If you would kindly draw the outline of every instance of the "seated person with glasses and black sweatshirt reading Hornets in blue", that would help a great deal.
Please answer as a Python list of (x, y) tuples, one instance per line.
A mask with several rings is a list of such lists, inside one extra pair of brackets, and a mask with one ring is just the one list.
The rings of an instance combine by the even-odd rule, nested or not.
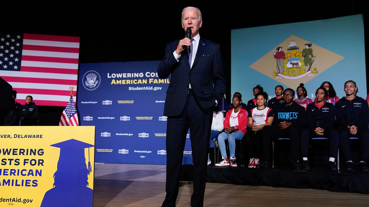
[(293, 101), (295, 92), (291, 88), (283, 91), (283, 105), (279, 105), (274, 110), (272, 126), (264, 126), (262, 133), (262, 156), (256, 168), (263, 169), (270, 167), (270, 141), (281, 137), (290, 138), (291, 155), (293, 167), (301, 169), (300, 158), (300, 132), (306, 124), (305, 109)]

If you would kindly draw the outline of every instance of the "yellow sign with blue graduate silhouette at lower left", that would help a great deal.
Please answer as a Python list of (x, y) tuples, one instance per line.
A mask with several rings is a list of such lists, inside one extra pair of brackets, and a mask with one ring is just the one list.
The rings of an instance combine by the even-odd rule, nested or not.
[(92, 207), (94, 126), (0, 127), (0, 207)]

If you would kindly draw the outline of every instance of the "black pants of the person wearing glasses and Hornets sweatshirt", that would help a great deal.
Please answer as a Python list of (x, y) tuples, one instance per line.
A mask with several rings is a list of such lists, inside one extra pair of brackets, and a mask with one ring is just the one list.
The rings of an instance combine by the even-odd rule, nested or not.
[(287, 129), (279, 129), (277, 125), (264, 126), (262, 133), (261, 160), (270, 162), (270, 141), (281, 137), (290, 138), (292, 161), (300, 158), (300, 129), (291, 124)]

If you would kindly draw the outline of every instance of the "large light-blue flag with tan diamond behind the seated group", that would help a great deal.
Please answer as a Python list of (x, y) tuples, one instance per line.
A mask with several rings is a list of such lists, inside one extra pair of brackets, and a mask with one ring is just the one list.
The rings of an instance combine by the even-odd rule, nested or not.
[[(272, 98), (275, 96), (276, 85), (296, 90), (301, 82), (305, 84), (308, 97), (314, 100), (315, 90), (324, 81), (330, 81), (337, 96), (342, 98), (345, 95), (343, 89), (347, 80), (354, 80), (359, 88), (358, 96), (366, 98), (362, 15), (234, 29), (231, 32), (231, 41), (231, 94), (235, 91), (241, 92), (242, 97), (245, 97), (244, 102), (254, 98), (252, 88), (256, 84), (261, 84)], [(296, 48), (291, 47), (293, 41)], [(310, 71), (315, 68), (317, 73), (300, 73), (290, 77), (273, 76), (273, 71), (276, 71), (273, 50), (280, 46), (288, 56), (288, 52), (305, 49), (306, 43), (312, 43), (311, 49), (315, 56)], [(304, 60), (304, 57), (301, 57), (301, 60)], [(285, 63), (292, 61), (293, 58), (284, 60)], [(300, 75), (306, 76), (299, 77)]]

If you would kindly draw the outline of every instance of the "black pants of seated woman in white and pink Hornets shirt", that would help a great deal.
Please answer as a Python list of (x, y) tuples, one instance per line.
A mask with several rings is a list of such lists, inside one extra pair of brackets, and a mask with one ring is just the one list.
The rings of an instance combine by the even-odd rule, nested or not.
[(261, 149), (261, 134), (263, 130), (252, 131), (247, 130), (245, 136), (242, 138), (246, 140), (246, 155), (248, 158), (260, 158)]

